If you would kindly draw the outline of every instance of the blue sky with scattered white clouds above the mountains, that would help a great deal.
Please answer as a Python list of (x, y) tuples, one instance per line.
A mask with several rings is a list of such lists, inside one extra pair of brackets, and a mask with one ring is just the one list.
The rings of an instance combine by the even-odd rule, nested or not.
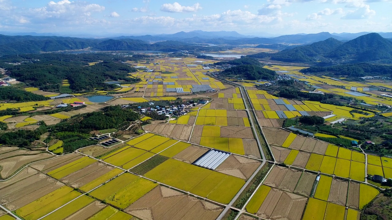
[(63, 36), (392, 32), (391, 9), (392, 0), (0, 0), (0, 31)]

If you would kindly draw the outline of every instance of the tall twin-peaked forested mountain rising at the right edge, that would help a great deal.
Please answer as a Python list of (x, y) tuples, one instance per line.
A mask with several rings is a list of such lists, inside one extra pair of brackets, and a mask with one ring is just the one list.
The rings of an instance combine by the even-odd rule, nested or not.
[(392, 41), (381, 37), (377, 33), (370, 33), (346, 43), (329, 38), (310, 45), (282, 50), (274, 54), (258, 53), (249, 56), (306, 63), (329, 61), (330, 58), (339, 60), (350, 59), (354, 62), (379, 61), (380, 63), (392, 63)]

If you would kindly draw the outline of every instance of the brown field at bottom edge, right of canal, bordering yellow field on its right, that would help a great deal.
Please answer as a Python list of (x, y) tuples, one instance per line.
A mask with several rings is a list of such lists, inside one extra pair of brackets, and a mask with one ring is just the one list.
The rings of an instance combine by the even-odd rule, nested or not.
[(307, 200), (306, 197), (283, 192), (274, 211), (270, 215), (270, 219), (301, 220)]

